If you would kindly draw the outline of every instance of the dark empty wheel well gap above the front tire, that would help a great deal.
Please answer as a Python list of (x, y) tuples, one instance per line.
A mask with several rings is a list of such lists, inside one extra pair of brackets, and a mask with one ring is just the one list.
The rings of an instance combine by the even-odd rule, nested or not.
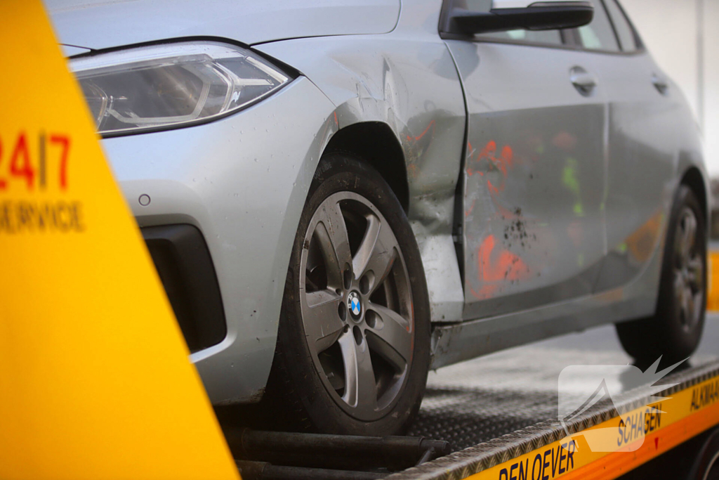
[(324, 153), (339, 151), (357, 155), (375, 168), (389, 184), (404, 211), (409, 211), (405, 156), (399, 140), (388, 124), (359, 122), (340, 129), (329, 140)]

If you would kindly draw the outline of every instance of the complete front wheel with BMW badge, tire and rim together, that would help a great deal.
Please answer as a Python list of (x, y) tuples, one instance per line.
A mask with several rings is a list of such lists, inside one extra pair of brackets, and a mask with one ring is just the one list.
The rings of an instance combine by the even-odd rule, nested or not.
[(263, 402), (278, 425), (403, 433), (429, 367), (429, 301), (398, 199), (366, 163), (321, 160), (293, 245)]

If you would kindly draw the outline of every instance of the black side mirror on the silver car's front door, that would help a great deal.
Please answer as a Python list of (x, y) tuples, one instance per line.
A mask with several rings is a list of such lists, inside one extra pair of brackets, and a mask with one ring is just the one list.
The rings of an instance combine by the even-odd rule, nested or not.
[(590, 1), (491, 0), (489, 11), (467, 9), (467, 0), (449, 0), (441, 31), (475, 35), (507, 30), (555, 30), (582, 27), (592, 21)]

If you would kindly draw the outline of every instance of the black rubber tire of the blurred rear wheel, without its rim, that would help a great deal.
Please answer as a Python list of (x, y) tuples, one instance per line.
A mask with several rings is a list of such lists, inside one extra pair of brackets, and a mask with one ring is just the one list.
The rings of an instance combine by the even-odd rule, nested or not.
[[(684, 216), (686, 212), (691, 212), (696, 220), (695, 242), (690, 255), (697, 259), (695, 264), (701, 266), (700, 273), (695, 274), (698, 311), (691, 319), (682, 313), (682, 305), (678, 298), (681, 289), (675, 286), (679, 255), (677, 233), (683, 232), (686, 228), (685, 223), (682, 223), (687, 222)], [(689, 187), (680, 185), (669, 217), (656, 313), (654, 317), (616, 325), (624, 350), (640, 366), (651, 365), (659, 356), (662, 358), (661, 366), (669, 366), (688, 358), (699, 345), (704, 328), (707, 285), (707, 236), (703, 212), (694, 192)], [(677, 282), (677, 285), (684, 285), (682, 282), (684, 280)]]

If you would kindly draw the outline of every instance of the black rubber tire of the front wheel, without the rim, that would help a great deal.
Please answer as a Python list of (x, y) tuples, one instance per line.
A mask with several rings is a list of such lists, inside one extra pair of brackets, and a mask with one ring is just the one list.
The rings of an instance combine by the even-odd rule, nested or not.
[[(324, 364), (320, 363), (318, 366), (317, 361), (313, 360), (311, 348), (308, 346), (309, 340), (306, 340), (306, 335), (308, 334), (303, 324), (300, 279), (306, 277), (301, 277), (301, 261), (303, 249), (309, 250), (311, 248), (306, 235), (310, 235), (308, 234), (308, 228), (311, 226), (311, 219), (313, 219), (317, 209), (324, 205), (323, 202), (326, 199), (339, 192), (358, 194), (370, 201), (381, 213), (396, 238), (398, 248), (404, 259), (404, 263), (400, 267), (406, 266), (403, 272), (408, 274), (410, 281), (408, 288), (411, 289), (413, 304), (412, 329), (414, 332), (414, 344), (411, 361), (407, 362), (406, 379), (403, 380), (406, 383), (402, 384), (400, 394), (393, 403), (385, 407), (386, 412), (383, 412), (383, 415), (377, 418), (355, 417), (354, 414), (350, 415), (347, 412), (348, 406), (343, 406), (340, 403), (342, 398), (339, 395), (349, 387), (346, 384), (341, 389), (328, 386), (330, 382), (329, 375), (323, 370)], [(335, 197), (333, 196), (332, 198)], [(344, 215), (344, 212), (342, 213)], [(347, 222), (347, 218), (345, 217), (344, 219)], [(347, 228), (349, 230), (349, 227)], [(305, 261), (308, 262), (307, 259), (310, 253), (305, 255)], [(354, 252), (352, 252), (352, 255), (352, 261), (354, 262)], [(391, 265), (394, 264), (395, 262), (393, 261)], [(394, 272), (393, 268), (395, 267), (390, 267), (391, 272)], [(329, 270), (329, 267), (327, 269)], [(305, 271), (306, 275), (310, 274), (307, 268), (305, 268)], [(350, 273), (352, 279), (354, 278), (353, 275), (354, 273)], [(395, 273), (388, 273), (386, 278), (389, 279), (390, 275), (395, 275)], [(346, 279), (347, 277), (343, 278)], [(306, 289), (308, 290), (310, 289), (309, 285), (309, 283), (306, 283)], [(347, 288), (349, 289), (350, 287)], [(339, 289), (337, 291), (339, 294)], [(347, 295), (349, 294), (351, 292), (347, 293)], [(341, 302), (344, 302), (346, 307), (349, 304), (349, 299)], [(371, 305), (369, 299), (367, 299), (367, 304), (365, 305), (367, 308), (363, 307), (365, 308), (363, 314), (365, 311), (367, 312), (367, 319), (370, 318), (369, 307)], [(342, 309), (342, 304), (340, 304), (340, 309)], [(350, 320), (354, 318), (350, 317), (351, 314), (352, 312), (346, 312), (346, 319), (342, 321), (349, 324)], [(348, 327), (345, 328), (347, 329)], [(407, 329), (408, 331), (410, 330), (409, 327)], [(349, 330), (350, 333), (353, 331), (356, 330)], [(367, 338), (363, 340), (366, 345), (370, 344), (370, 336), (367, 333)], [(408, 425), (416, 416), (423, 397), (429, 368), (429, 339), (429, 296), (426, 281), (419, 249), (400, 202), (387, 182), (367, 163), (347, 153), (329, 153), (325, 155), (321, 159), (308, 192), (308, 199), (292, 249), (280, 314), (278, 343), (272, 371), (270, 372), (270, 380), (267, 384), (265, 397), (262, 399), (262, 410), (271, 412), (270, 415), (265, 417), (266, 420), (270, 420), (273, 427), (278, 429), (316, 433), (376, 436), (405, 433)], [(359, 342), (359, 340), (357, 341)], [(316, 348), (316, 350), (319, 350), (319, 348)], [(316, 353), (316, 350), (316, 356), (324, 355), (324, 353)], [(369, 352), (370, 350), (367, 351)], [(374, 350), (372, 350), (372, 353), (374, 355)], [(375, 362), (375, 356), (372, 356), (372, 362)], [(339, 371), (343, 370), (339, 368)], [(372, 376), (372, 378), (374, 379), (375, 376)], [(330, 388), (334, 389), (335, 394), (331, 393)]]

